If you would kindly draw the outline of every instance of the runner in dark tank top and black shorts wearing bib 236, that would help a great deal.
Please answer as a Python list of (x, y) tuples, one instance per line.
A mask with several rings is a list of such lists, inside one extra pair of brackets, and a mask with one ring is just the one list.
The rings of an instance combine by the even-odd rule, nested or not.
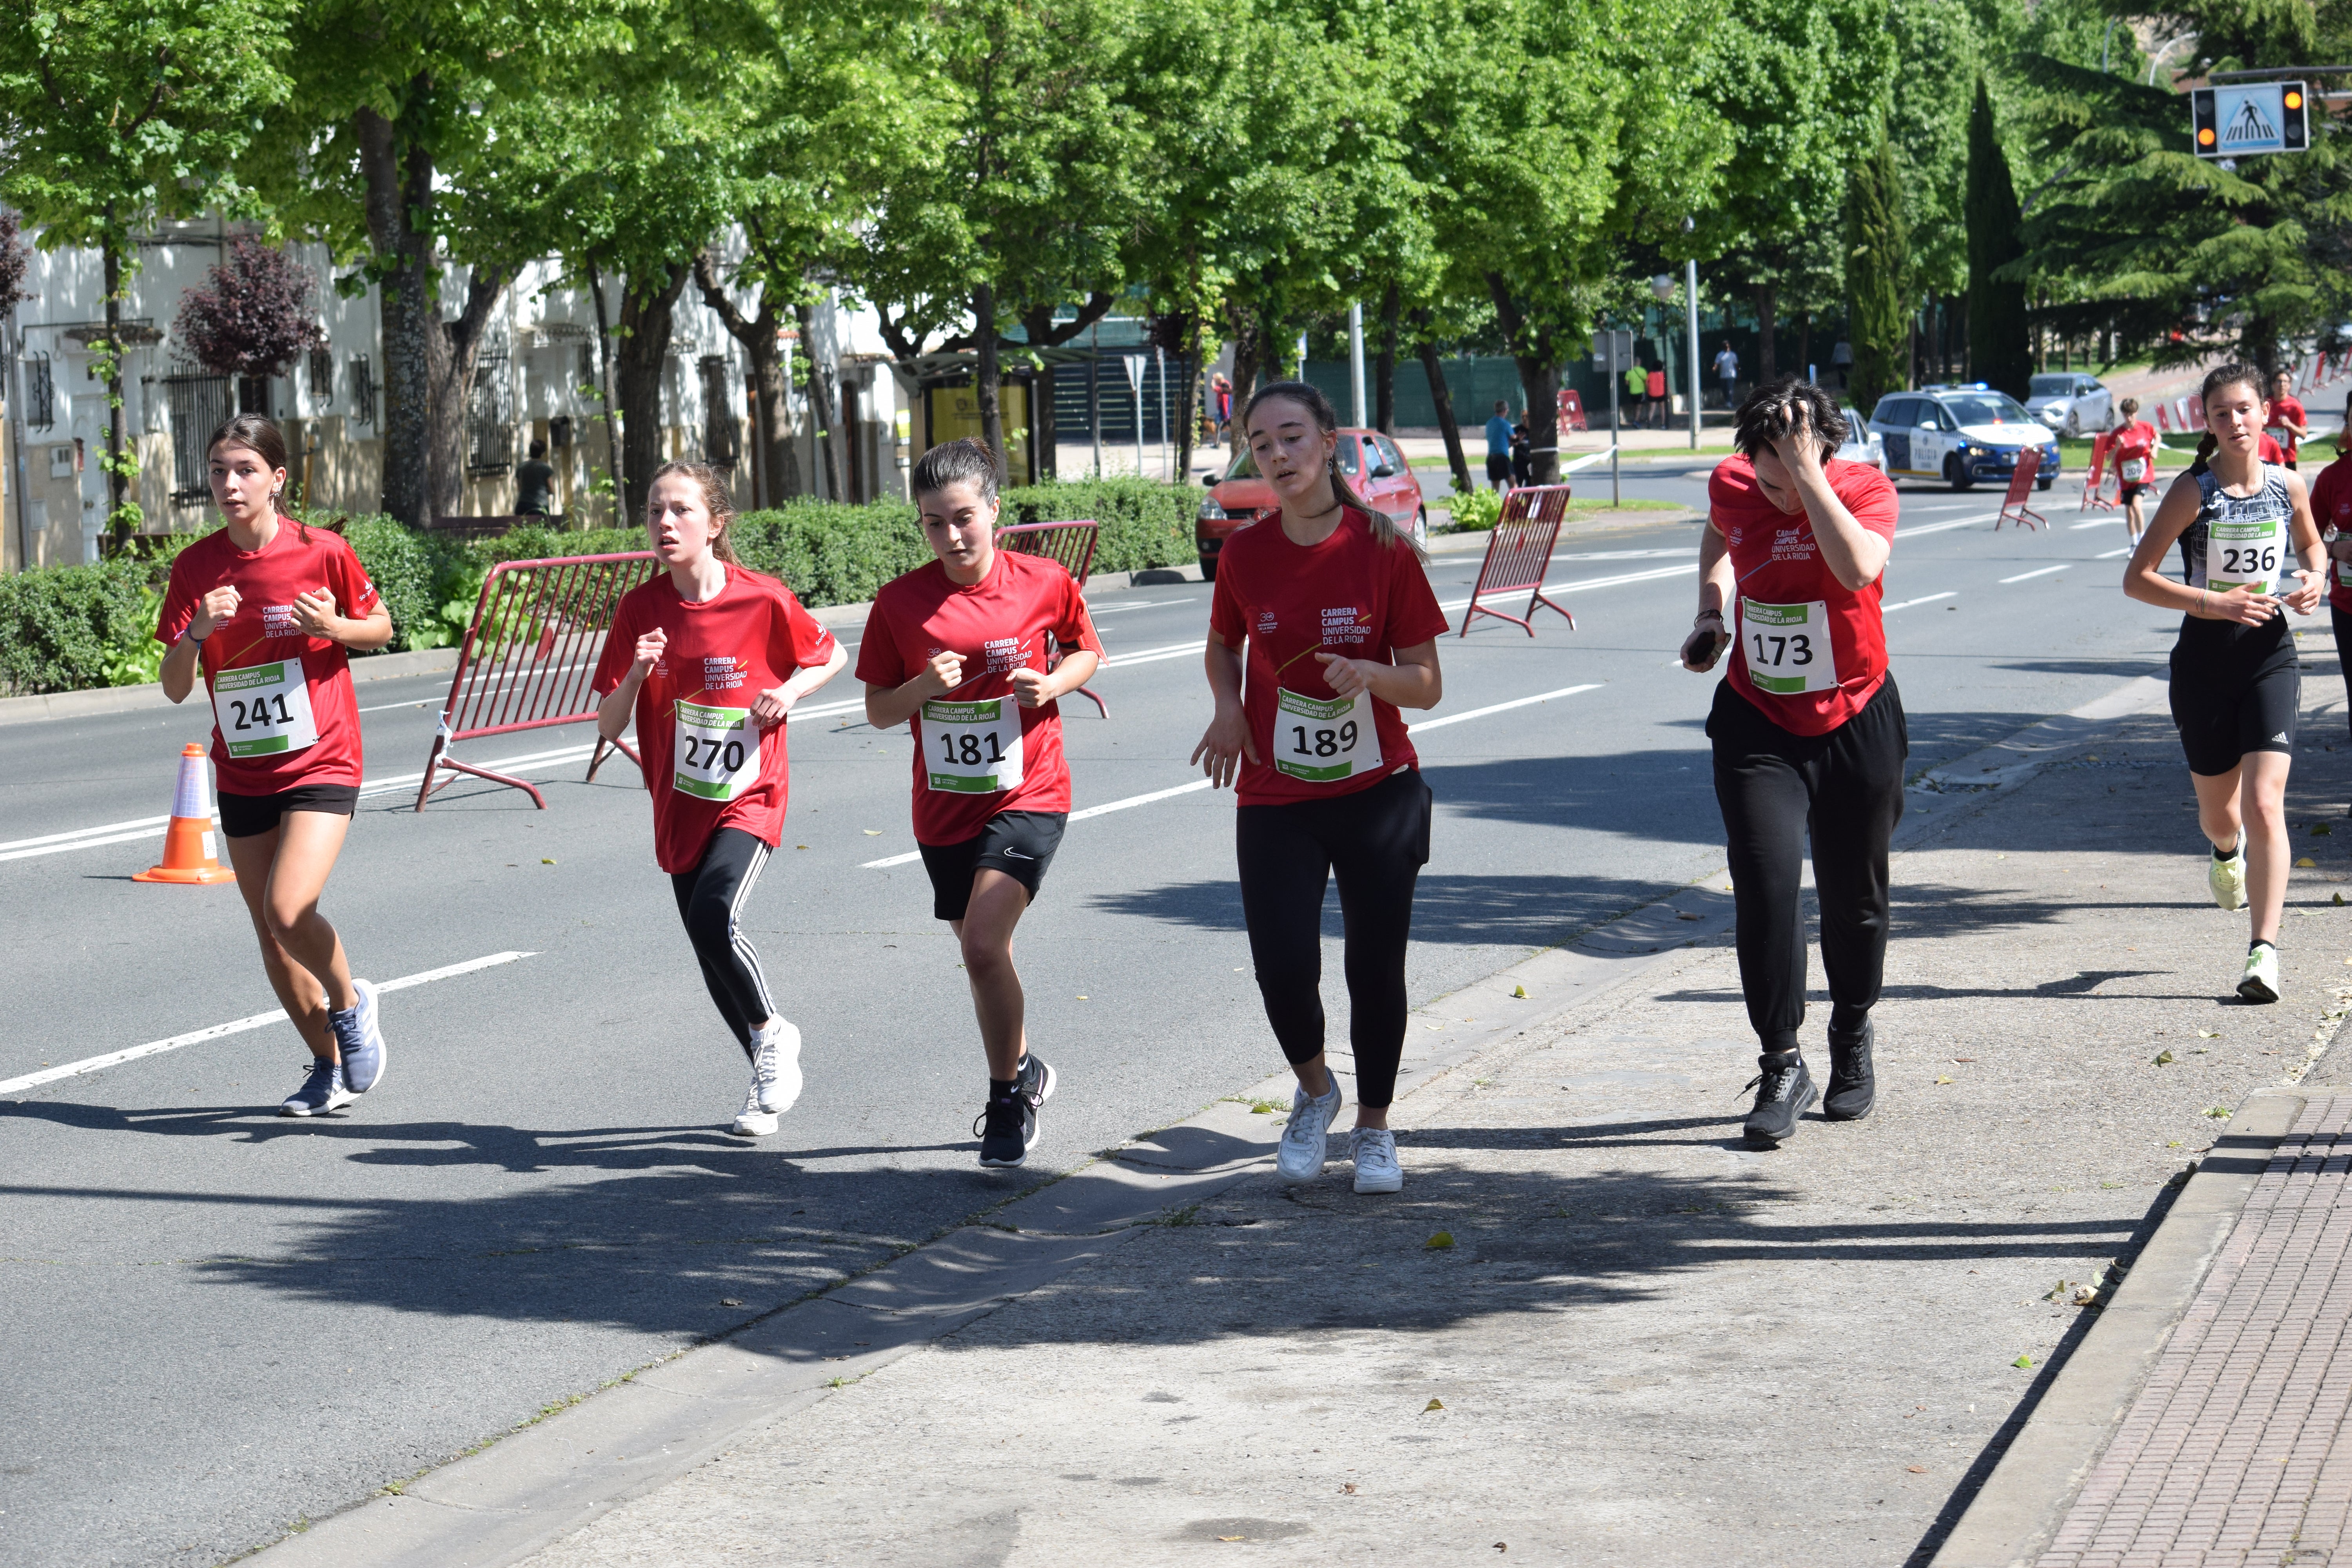
[[(2286, 769), (2296, 750), (2300, 677), (2286, 611), (2307, 616), (2324, 590), (2319, 529), (2293, 470), (2263, 463), (2260, 371), (2206, 376), (2206, 444), (2173, 480), (2131, 552), (2124, 592), (2185, 611), (2171, 701), (2197, 785), (2197, 825), (2213, 839), (2213, 903), (2251, 903), (2253, 943), (2237, 994), (2279, 999), (2279, 912), (2286, 903)], [(2180, 581), (2164, 555), (2180, 541)], [(2249, 898), (2251, 896), (2251, 898)]]

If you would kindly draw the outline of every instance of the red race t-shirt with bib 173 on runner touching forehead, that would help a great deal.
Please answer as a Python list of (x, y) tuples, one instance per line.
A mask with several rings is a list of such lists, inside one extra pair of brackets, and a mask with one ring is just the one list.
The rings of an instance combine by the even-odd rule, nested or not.
[[(1830, 458), (1830, 494), (1882, 538), (1896, 536), (1896, 487), (1877, 468)], [(1738, 581), (1731, 689), (1792, 736), (1825, 736), (1886, 679), (1879, 583), (1842, 585), (1820, 559), (1804, 508), (1783, 512), (1743, 456), (1708, 480), (1710, 524)], [(1882, 574), (1884, 576), (1884, 574)], [(1828, 637), (1823, 637), (1828, 635)]]

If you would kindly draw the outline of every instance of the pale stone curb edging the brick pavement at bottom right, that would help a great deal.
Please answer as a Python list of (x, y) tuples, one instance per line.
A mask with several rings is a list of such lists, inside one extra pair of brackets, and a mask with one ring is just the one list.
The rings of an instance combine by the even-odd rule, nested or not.
[(2023, 1410), (1999, 1465), (1931, 1568), (2027, 1568), (2049, 1547), (2303, 1105), (2305, 1095), (2281, 1088), (2246, 1100), (2131, 1260), (2098, 1321)]

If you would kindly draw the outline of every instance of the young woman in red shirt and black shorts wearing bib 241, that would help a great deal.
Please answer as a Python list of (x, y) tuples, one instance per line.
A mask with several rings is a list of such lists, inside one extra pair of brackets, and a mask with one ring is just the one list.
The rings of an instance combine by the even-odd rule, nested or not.
[(172, 562), (155, 639), (162, 693), (212, 696), (221, 837), (261, 938), (261, 969), (310, 1065), (282, 1117), (318, 1117), (383, 1081), (376, 987), (350, 978), (318, 912), (360, 809), (360, 703), (350, 651), (393, 639), (393, 616), (341, 534), (285, 510), (287, 444), (240, 414), (212, 435), (212, 501), (226, 524)]

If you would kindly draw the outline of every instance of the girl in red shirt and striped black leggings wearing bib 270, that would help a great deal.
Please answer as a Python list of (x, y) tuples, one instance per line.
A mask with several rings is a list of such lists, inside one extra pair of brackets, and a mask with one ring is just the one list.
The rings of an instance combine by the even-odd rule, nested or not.
[(595, 668), (595, 726), (619, 741), (637, 722), (654, 797), (654, 860), (727, 1030), (750, 1058), (739, 1138), (764, 1138), (800, 1098), (800, 1030), (776, 1011), (743, 936), (790, 783), (783, 724), (849, 654), (793, 590), (736, 559), (727, 480), (708, 463), (663, 463), (644, 531), (666, 571), (621, 595)]

